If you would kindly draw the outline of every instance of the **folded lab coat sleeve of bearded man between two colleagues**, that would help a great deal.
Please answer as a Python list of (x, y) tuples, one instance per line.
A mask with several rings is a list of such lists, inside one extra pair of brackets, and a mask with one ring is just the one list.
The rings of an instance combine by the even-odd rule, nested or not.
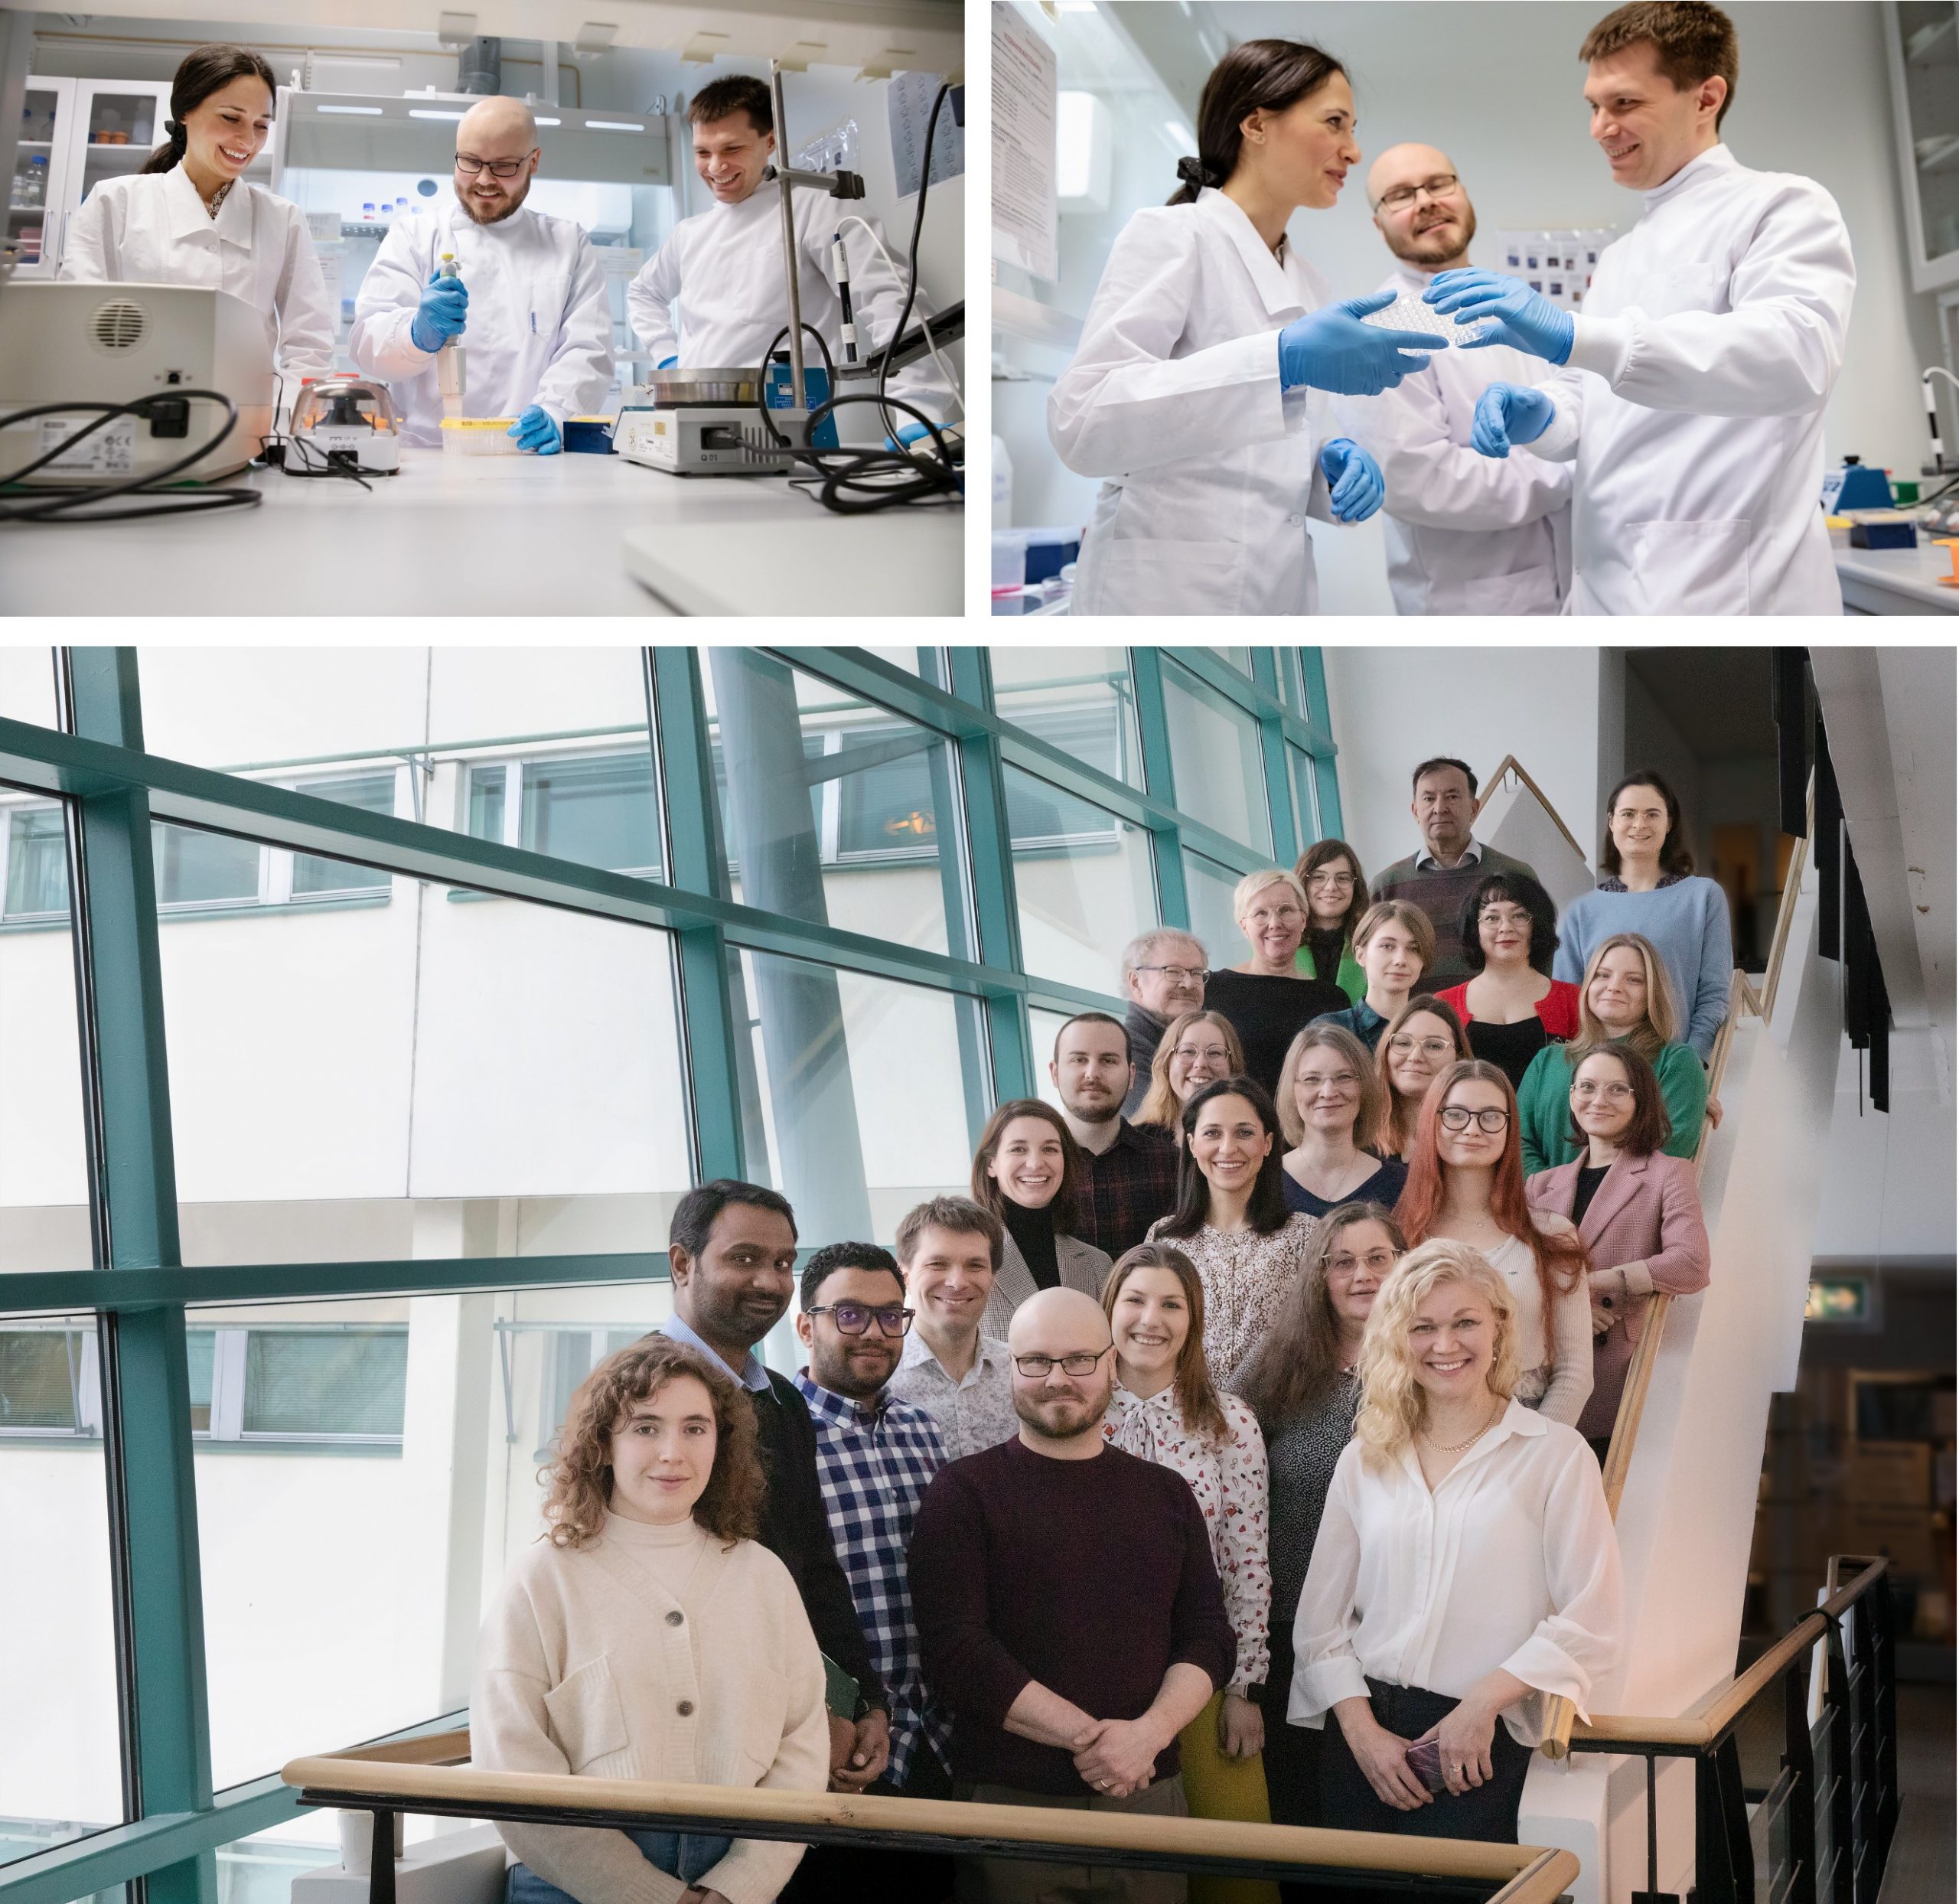
[(1544, 460), (1485, 456), (1450, 435), (1432, 370), (1348, 398), (1342, 429), (1381, 464), (1383, 507), (1420, 529), (1520, 529), (1571, 501), (1571, 478)]

